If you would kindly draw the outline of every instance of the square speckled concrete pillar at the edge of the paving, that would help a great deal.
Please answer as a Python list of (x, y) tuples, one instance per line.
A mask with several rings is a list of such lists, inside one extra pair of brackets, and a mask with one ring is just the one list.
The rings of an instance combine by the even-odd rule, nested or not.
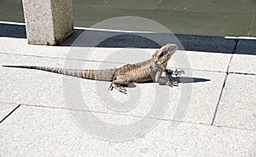
[(28, 44), (55, 45), (73, 33), (72, 0), (22, 0)]

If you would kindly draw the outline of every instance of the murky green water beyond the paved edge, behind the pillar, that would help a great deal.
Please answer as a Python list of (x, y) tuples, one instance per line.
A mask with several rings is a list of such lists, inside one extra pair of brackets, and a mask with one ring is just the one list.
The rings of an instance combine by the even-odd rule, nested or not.
[[(24, 22), (21, 0), (0, 4), (0, 20)], [(73, 14), (74, 26), (139, 16), (179, 34), (256, 37), (256, 0), (73, 0)]]

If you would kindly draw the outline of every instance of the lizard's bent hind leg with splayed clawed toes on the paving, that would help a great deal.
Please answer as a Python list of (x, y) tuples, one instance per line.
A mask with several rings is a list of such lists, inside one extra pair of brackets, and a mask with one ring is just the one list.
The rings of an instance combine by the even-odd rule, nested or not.
[(125, 90), (125, 87), (127, 87), (130, 84), (129, 78), (127, 78), (125, 75), (119, 75), (113, 82), (110, 84), (110, 87), (108, 90), (119, 90), (119, 92), (127, 94)]

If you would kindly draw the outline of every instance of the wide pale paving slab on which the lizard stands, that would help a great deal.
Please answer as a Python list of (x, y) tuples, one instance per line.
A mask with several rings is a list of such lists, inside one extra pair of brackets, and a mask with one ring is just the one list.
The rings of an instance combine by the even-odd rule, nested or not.
[[(61, 59), (23, 55), (1, 55), (1, 57), (4, 61), (1, 64), (7, 65), (16, 65), (17, 62), (19, 65), (29, 63), (29, 65), (49, 67), (63, 67), (64, 65), (64, 61)], [(82, 63), (82, 65), (84, 63), (85, 68), (95, 69), (119, 67), (118, 64), (108, 62), (77, 61), (77, 63)], [(212, 123), (225, 76), (225, 73), (185, 70), (183, 76), (177, 77), (177, 81), (180, 82), (177, 88), (153, 83), (131, 84), (131, 87), (127, 88), (129, 95), (124, 96), (114, 90), (109, 91), (109, 82), (63, 77), (56, 73), (20, 68), (0, 67), (0, 71), (2, 75), (0, 84), (3, 86), (2, 92), (0, 91), (2, 102), (137, 116), (145, 116), (152, 106), (159, 105), (160, 109), (168, 108), (165, 110), (166, 116), (162, 117), (165, 115), (164, 113), (148, 116), (204, 124)], [(73, 89), (75, 87), (77, 89)], [(78, 96), (82, 98), (81, 101), (84, 101), (79, 102), (79, 106), (67, 104), (67, 97), (78, 93), (73, 90), (78, 90), (80, 93)], [(204, 99), (201, 99), (201, 90), (207, 91), (204, 92)], [(154, 96), (160, 99), (156, 99)], [(70, 99), (78, 100), (78, 97), (73, 96)], [(114, 108), (117, 108), (118, 111)], [(119, 109), (125, 112), (119, 111)], [(179, 112), (181, 115), (175, 117)]]

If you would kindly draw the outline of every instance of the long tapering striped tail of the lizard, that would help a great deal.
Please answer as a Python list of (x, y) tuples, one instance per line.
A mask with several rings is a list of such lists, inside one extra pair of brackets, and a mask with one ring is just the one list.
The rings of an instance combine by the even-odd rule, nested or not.
[(59, 73), (63, 75), (73, 76), (77, 78), (95, 79), (102, 81), (113, 80), (113, 73), (115, 69), (105, 70), (79, 70), (79, 69), (64, 69), (58, 67), (36, 67), (36, 66), (2, 66), (2, 67), (15, 67), (15, 68), (27, 68), (43, 70), (50, 73)]

